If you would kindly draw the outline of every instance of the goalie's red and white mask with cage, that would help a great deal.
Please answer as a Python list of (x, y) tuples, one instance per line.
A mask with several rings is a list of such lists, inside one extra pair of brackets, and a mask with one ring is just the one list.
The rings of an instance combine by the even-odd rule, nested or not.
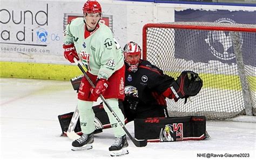
[(129, 71), (136, 72), (138, 70), (141, 51), (139, 45), (133, 41), (124, 46), (124, 61), (129, 65)]

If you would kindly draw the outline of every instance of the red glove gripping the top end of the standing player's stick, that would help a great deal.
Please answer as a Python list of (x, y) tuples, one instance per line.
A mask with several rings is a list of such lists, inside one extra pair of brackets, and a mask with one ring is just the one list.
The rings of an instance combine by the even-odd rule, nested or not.
[(77, 54), (77, 51), (76, 51), (76, 48), (75, 48), (74, 44), (63, 45), (63, 49), (64, 49), (64, 57), (66, 59), (68, 59), (71, 63), (75, 62), (73, 60), (74, 58), (79, 60), (78, 54)]

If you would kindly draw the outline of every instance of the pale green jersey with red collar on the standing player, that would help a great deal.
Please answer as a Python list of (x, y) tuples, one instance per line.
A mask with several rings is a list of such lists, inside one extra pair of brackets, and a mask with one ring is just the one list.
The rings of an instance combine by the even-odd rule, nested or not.
[(99, 23), (89, 32), (83, 18), (76, 18), (66, 26), (64, 44), (73, 43), (80, 60), (88, 71), (98, 78), (108, 79), (124, 65), (121, 48), (116, 48), (112, 31)]

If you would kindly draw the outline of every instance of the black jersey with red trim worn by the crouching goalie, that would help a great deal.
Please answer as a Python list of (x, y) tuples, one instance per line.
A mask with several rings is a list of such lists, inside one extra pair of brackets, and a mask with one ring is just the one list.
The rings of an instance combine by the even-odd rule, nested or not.
[[(165, 75), (161, 69), (149, 61), (141, 60), (135, 73), (129, 72), (127, 69), (129, 66), (126, 63), (125, 65), (126, 96), (123, 102), (125, 113), (142, 115), (133, 118), (144, 118), (143, 113), (145, 114), (147, 111), (157, 112), (158, 108), (166, 108), (165, 97), (162, 93), (170, 87), (174, 79)], [(149, 115), (145, 115), (145, 117), (149, 117)], [(152, 117), (158, 117), (157, 113)]]

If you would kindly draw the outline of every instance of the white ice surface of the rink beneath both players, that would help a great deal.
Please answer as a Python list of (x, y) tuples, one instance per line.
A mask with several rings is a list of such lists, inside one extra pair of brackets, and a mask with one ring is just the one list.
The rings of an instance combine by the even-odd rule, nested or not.
[[(197, 154), (250, 154), (255, 159), (256, 123), (207, 121), (211, 138), (203, 141), (148, 143), (138, 148), (129, 140), (128, 155), (110, 157), (111, 129), (95, 135), (92, 150), (71, 151), (60, 137), (57, 116), (76, 107), (69, 81), (1, 78), (0, 159), (207, 159)], [(133, 123), (126, 124), (133, 135)], [(211, 159), (241, 159), (216, 158)]]

